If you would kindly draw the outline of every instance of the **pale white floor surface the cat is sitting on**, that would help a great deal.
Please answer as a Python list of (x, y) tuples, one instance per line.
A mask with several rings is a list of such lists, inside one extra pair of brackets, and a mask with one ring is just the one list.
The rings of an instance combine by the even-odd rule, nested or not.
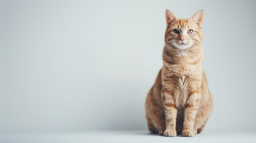
[(189, 142), (189, 143), (219, 143), (219, 142), (256, 142), (256, 132), (212, 132), (200, 133), (195, 137), (165, 137), (152, 135), (147, 131), (91, 131), (69, 133), (0, 133), (0, 142), (12, 143), (65, 143), (65, 142)]

